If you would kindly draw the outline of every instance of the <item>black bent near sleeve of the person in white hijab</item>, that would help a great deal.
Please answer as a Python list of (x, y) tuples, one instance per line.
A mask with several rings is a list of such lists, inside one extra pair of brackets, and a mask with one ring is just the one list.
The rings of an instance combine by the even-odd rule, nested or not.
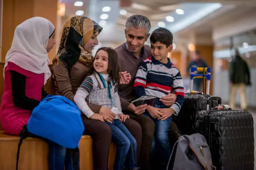
[(26, 76), (13, 70), (11, 73), (11, 82), (13, 90), (13, 103), (15, 106), (26, 110), (33, 110), (40, 101), (28, 98), (25, 94)]

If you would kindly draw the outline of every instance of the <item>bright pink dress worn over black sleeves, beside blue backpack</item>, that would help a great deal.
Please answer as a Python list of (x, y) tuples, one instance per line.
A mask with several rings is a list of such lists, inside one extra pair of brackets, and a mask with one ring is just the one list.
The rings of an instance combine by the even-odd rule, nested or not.
[(36, 74), (25, 70), (13, 62), (5, 67), (4, 92), (0, 107), (0, 120), (6, 134), (19, 135), (24, 125), (28, 124), (30, 110), (19, 108), (13, 104), (13, 90), (10, 70), (26, 76), (25, 94), (29, 98), (41, 100), (41, 90), (44, 85), (44, 73)]

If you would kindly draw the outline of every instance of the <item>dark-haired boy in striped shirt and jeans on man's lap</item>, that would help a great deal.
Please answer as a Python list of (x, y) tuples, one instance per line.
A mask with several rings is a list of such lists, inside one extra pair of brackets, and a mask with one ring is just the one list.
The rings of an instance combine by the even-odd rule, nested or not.
[[(158, 28), (152, 32), (151, 57), (147, 58), (138, 67), (134, 90), (137, 97), (153, 95), (156, 97), (154, 105), (149, 107), (144, 115), (155, 123), (155, 137), (151, 148), (152, 161), (159, 158), (158, 169), (166, 169), (170, 153), (169, 128), (172, 115), (178, 115), (184, 102), (184, 88), (179, 69), (167, 57), (172, 52), (172, 32), (165, 28)], [(166, 107), (160, 98), (172, 90), (176, 92), (176, 102)], [(157, 150), (155, 150), (157, 148)], [(157, 152), (156, 152), (157, 151)], [(154, 158), (153, 158), (153, 157)]]

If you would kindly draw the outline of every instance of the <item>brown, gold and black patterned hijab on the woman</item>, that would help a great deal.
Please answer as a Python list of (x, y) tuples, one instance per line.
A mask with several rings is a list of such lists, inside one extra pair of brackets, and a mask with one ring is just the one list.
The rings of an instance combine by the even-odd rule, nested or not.
[(84, 50), (84, 43), (87, 43), (97, 31), (100, 33), (102, 27), (90, 18), (76, 16), (67, 20), (62, 30), (59, 50), (53, 59), (53, 63), (60, 61), (67, 65), (69, 70), (77, 61), (90, 67), (92, 53)]

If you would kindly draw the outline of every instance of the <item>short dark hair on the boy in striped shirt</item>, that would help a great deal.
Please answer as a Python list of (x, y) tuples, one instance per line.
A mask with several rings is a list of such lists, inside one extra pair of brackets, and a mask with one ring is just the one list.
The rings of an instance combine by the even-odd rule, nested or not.
[(166, 28), (157, 28), (154, 30), (150, 36), (150, 42), (156, 43), (160, 42), (166, 47), (169, 47), (169, 45), (172, 45), (173, 41), (173, 35), (172, 32), (167, 30)]

